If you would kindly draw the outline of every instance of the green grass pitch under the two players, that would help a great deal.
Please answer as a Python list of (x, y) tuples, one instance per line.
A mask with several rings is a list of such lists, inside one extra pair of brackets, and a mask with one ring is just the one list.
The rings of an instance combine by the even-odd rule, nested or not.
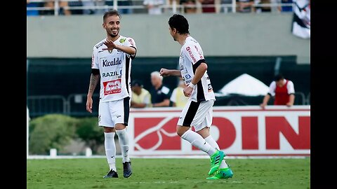
[(133, 174), (123, 177), (117, 158), (118, 179), (103, 179), (107, 160), (27, 160), (27, 188), (310, 188), (310, 158), (228, 159), (232, 179), (206, 180), (208, 159), (133, 158)]

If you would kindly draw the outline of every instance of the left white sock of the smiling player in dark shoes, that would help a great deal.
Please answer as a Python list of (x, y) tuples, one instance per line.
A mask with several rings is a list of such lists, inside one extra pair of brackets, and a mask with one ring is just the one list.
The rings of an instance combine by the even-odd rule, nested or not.
[(107, 156), (107, 163), (109, 164), (110, 170), (116, 169), (116, 145), (114, 144), (114, 132), (104, 133), (104, 147), (105, 155)]

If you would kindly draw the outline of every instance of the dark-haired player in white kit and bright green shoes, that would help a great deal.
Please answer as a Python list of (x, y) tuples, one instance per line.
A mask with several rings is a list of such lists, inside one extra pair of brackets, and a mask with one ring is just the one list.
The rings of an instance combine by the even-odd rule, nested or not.
[[(188, 31), (189, 25), (183, 15), (175, 14), (169, 19), (169, 31), (174, 41), (182, 45), (180, 50), (180, 70), (160, 70), (161, 76), (178, 76), (188, 85), (184, 94), (189, 97), (181, 112), (177, 134), (190, 144), (207, 153), (211, 158), (211, 169), (207, 179), (232, 178), (233, 172), (223, 159), (226, 155), (209, 134), (213, 118), (213, 104), (216, 100), (207, 74), (207, 64), (201, 47)], [(194, 127), (194, 131), (190, 130)]]

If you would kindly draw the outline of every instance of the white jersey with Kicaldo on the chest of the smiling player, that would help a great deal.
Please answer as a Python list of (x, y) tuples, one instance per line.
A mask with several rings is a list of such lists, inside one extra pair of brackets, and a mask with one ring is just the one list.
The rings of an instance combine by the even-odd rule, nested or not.
[[(131, 59), (121, 50), (102, 50), (107, 48), (103, 39), (93, 47), (91, 69), (100, 69), (100, 102), (110, 102), (131, 97)], [(136, 48), (133, 38), (119, 36), (116, 45)]]

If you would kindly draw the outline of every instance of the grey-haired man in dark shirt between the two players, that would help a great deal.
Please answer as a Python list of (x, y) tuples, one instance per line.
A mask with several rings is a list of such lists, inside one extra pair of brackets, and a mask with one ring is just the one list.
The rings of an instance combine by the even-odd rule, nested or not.
[(159, 71), (151, 73), (151, 83), (152, 107), (170, 106), (170, 89), (163, 85), (163, 76), (160, 75)]

